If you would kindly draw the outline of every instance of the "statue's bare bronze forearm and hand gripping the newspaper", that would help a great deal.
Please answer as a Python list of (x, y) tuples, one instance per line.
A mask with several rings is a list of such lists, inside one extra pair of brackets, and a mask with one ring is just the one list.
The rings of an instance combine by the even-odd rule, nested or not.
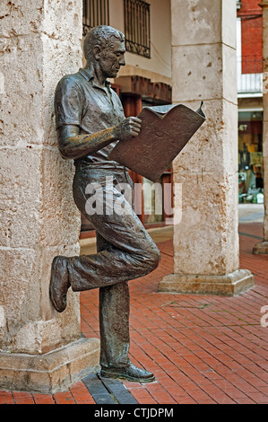
[(116, 140), (138, 136), (140, 129), (141, 119), (134, 117), (92, 135), (80, 134), (79, 126), (65, 125), (57, 129), (59, 151), (65, 159), (78, 159), (95, 153)]

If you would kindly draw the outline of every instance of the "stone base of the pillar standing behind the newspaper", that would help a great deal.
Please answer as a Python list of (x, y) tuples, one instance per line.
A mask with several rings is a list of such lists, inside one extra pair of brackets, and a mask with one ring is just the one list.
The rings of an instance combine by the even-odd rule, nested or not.
[(224, 276), (177, 275), (164, 277), (159, 292), (234, 296), (255, 286), (254, 277), (248, 269), (238, 269)]

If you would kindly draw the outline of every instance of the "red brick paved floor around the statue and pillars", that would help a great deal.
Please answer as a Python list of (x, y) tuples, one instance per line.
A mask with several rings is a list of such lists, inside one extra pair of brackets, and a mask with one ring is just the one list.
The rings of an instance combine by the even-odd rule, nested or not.
[[(240, 268), (255, 275), (243, 295), (158, 293), (161, 277), (173, 272), (172, 241), (160, 242), (160, 267), (131, 286), (131, 348), (136, 365), (156, 382), (124, 382), (140, 404), (268, 403), (268, 258), (252, 248), (262, 224), (240, 224)], [(82, 333), (99, 336), (98, 291), (81, 295)], [(268, 313), (268, 311), (266, 311)], [(50, 395), (0, 391), (1, 403), (94, 403), (83, 382)]]

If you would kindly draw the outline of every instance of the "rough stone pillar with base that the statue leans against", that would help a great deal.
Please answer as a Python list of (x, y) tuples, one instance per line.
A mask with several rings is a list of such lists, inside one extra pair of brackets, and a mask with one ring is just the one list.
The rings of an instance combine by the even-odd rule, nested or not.
[(79, 295), (62, 314), (54, 256), (79, 254), (73, 163), (57, 150), (57, 81), (81, 66), (81, 0), (0, 4), (0, 389), (53, 393), (99, 363), (81, 338)]

